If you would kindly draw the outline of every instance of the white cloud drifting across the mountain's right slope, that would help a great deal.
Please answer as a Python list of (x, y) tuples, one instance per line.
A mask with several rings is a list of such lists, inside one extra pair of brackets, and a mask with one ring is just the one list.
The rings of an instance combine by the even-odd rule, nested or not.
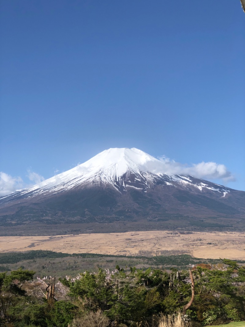
[(214, 162), (193, 163), (191, 165), (175, 162), (162, 156), (160, 162), (148, 162), (143, 168), (155, 174), (192, 175), (206, 180), (221, 179), (223, 182), (235, 181), (235, 177), (224, 164)]

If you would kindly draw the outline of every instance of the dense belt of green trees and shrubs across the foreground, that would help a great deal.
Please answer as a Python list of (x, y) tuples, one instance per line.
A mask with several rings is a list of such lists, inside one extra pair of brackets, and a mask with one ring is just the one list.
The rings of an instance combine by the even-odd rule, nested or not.
[(245, 267), (228, 259), (170, 273), (117, 266), (56, 281), (34, 274), (0, 273), (1, 327), (156, 327), (161, 314), (177, 312), (194, 326), (245, 319)]

